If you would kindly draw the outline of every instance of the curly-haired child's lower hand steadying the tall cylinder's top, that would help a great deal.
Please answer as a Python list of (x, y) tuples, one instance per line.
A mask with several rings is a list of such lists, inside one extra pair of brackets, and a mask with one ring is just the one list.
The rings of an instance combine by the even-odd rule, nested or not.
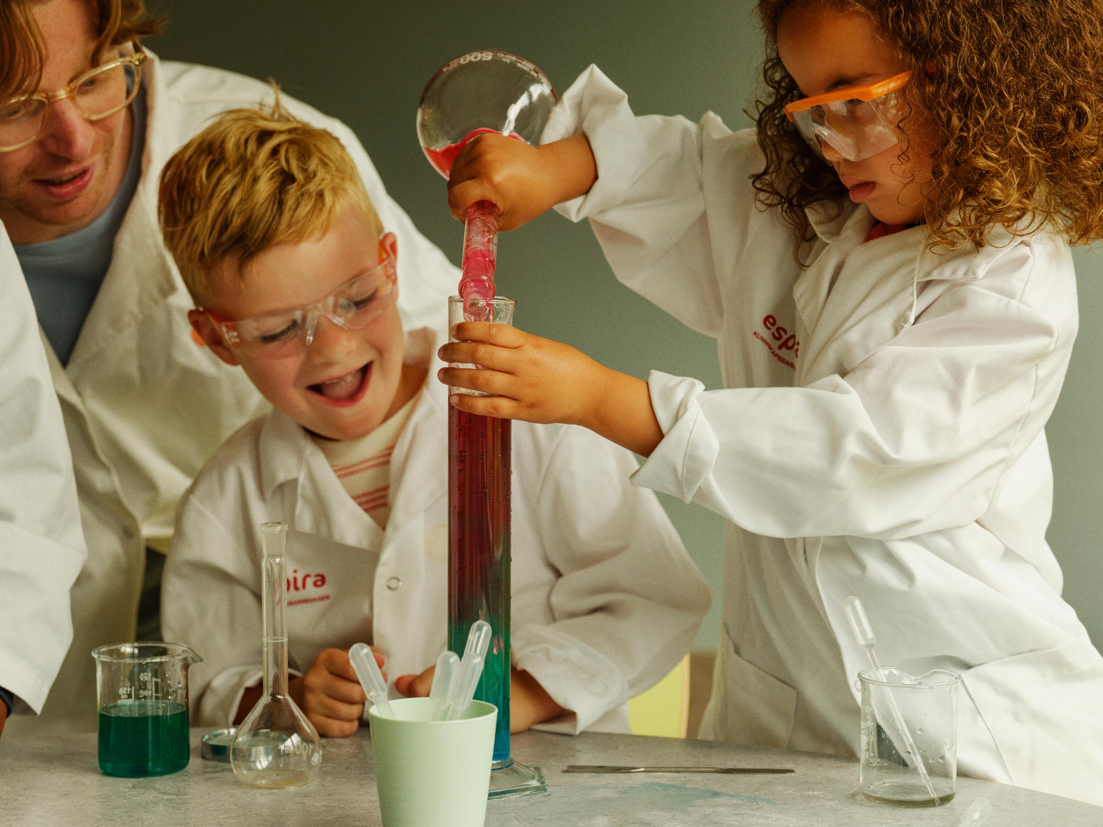
[(461, 322), (460, 340), (442, 345), (445, 362), (483, 369), (443, 367), (446, 385), (494, 396), (453, 394), (460, 410), (527, 422), (580, 425), (647, 457), (663, 439), (647, 383), (611, 370), (580, 351), (505, 324)]

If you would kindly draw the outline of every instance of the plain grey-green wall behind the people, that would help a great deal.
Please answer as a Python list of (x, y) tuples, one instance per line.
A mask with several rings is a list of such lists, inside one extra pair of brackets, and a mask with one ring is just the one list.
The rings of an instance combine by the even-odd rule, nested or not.
[[(149, 46), (190, 61), (278, 80), (352, 127), (392, 196), (459, 260), (462, 228), (443, 180), (417, 143), (414, 112), (426, 80), (475, 49), (528, 57), (565, 90), (597, 63), (640, 114), (698, 119), (711, 109), (750, 123), (761, 35), (750, 0), (148, 0), (169, 18)], [(1049, 540), (1065, 597), (1103, 645), (1103, 253), (1077, 253), (1081, 333), (1048, 434), (1056, 473)], [(656, 368), (720, 386), (716, 345), (613, 279), (587, 225), (549, 214), (503, 237), (500, 289), (517, 300), (517, 324), (568, 342), (636, 376)], [(719, 594), (722, 520), (663, 496), (694, 560)], [(716, 645), (719, 606), (696, 647)]]

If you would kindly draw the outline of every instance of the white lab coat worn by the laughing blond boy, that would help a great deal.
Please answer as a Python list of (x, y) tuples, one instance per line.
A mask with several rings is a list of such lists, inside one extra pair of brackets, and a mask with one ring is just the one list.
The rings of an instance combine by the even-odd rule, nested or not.
[[(296, 674), (322, 649), (364, 641), (386, 658), (394, 695), (398, 676), (446, 648), (448, 389), (436, 378), (446, 340), (421, 330), (408, 341), (407, 361), (428, 359), (429, 379), (392, 455), (385, 533), (278, 411), (226, 442), (181, 501), (161, 616), (171, 640), (205, 658), (190, 675), (200, 726), (229, 724), (261, 675), (260, 523), (289, 526)], [(569, 710), (546, 728), (628, 732), (625, 702), (688, 649), (708, 587), (655, 495), (628, 484), (628, 451), (527, 422), (514, 422), (512, 445), (513, 665)]]

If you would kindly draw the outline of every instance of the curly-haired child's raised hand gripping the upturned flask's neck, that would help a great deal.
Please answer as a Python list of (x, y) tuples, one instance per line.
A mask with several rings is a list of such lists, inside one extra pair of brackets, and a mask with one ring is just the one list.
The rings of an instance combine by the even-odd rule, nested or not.
[(467, 218), (476, 201), (499, 208), (499, 228), (515, 229), (556, 204), (585, 195), (598, 179), (585, 135), (531, 147), (515, 138), (484, 133), (471, 139), (452, 164), (448, 205)]

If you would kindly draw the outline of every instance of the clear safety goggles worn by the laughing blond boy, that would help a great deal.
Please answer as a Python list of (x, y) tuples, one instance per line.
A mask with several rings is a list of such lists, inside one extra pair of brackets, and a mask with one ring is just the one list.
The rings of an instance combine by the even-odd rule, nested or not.
[[(384, 239), (387, 237), (394, 236), (388, 233)], [(379, 241), (379, 259), (377, 266), (313, 304), (233, 322), (204, 308), (199, 310), (218, 329), (228, 347), (263, 358), (300, 355), (314, 341), (321, 316), (345, 330), (363, 330), (394, 304), (398, 298), (398, 271), (383, 240)]]

